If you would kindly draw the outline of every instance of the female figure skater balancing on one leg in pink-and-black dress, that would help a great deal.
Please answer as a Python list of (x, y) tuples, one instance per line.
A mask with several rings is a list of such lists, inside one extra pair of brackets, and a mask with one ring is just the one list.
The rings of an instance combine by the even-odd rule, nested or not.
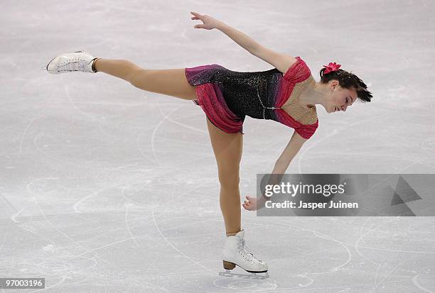
[[(301, 146), (316, 131), (316, 105), (323, 106), (328, 113), (346, 111), (357, 99), (370, 101), (372, 94), (361, 79), (340, 69), (335, 62), (323, 66), (321, 81), (316, 82), (301, 57), (274, 52), (211, 16), (191, 13), (191, 19), (202, 21), (194, 28), (216, 28), (274, 68), (262, 72), (235, 72), (213, 64), (151, 70), (127, 60), (103, 59), (78, 51), (58, 55), (44, 69), (52, 74), (104, 72), (144, 91), (191, 100), (199, 105), (206, 114), (218, 165), (220, 209), (227, 236), (222, 250), (223, 267), (232, 270), (238, 265), (247, 272), (267, 272), (267, 264), (245, 246), (245, 229), (241, 228), (239, 168), (245, 116), (269, 119), (294, 128), (272, 171), (272, 174), (284, 174)], [(264, 197), (257, 201), (256, 197), (247, 196), (242, 206), (254, 211), (264, 206), (264, 201)]]

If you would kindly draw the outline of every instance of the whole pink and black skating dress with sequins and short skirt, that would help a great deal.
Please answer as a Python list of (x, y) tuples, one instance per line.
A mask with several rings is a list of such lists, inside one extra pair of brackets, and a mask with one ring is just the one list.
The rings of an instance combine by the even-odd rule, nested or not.
[(285, 74), (276, 68), (235, 72), (213, 64), (186, 68), (186, 77), (189, 84), (196, 86), (198, 99), (193, 102), (201, 106), (210, 122), (226, 133), (243, 133), (245, 116), (277, 121), (294, 128), (304, 138), (310, 138), (318, 127), (317, 116), (310, 123), (301, 123), (281, 108), (287, 99), (299, 96), (301, 84), (314, 82), (301, 57), (296, 57)]

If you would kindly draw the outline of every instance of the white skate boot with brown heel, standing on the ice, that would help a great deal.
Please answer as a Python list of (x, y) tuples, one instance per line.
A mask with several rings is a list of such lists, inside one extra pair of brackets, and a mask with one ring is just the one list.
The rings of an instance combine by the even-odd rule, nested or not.
[(247, 272), (267, 272), (266, 262), (258, 260), (245, 248), (245, 230), (235, 236), (228, 236), (222, 250), (223, 267), (232, 270), (236, 265)]

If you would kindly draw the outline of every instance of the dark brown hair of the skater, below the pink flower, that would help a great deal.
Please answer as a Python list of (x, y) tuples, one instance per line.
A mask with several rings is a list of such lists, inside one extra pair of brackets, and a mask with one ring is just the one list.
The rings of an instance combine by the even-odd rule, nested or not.
[(326, 68), (322, 68), (319, 72), (322, 84), (327, 84), (331, 80), (335, 79), (338, 80), (340, 87), (343, 87), (344, 89), (350, 89), (352, 87), (355, 88), (358, 94), (358, 99), (361, 101), (365, 102), (372, 100), (373, 96), (372, 93), (367, 90), (367, 85), (365, 85), (365, 83), (352, 72), (339, 69), (328, 72), (327, 74), (323, 74), (325, 70)]

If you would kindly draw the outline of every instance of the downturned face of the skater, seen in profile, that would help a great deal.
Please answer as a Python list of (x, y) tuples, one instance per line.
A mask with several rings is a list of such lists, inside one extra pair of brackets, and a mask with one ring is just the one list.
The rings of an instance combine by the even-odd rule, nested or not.
[(358, 96), (355, 88), (343, 89), (337, 80), (328, 82), (328, 89), (331, 91), (328, 103), (326, 104), (326, 111), (328, 113), (346, 111), (348, 106), (352, 106)]

